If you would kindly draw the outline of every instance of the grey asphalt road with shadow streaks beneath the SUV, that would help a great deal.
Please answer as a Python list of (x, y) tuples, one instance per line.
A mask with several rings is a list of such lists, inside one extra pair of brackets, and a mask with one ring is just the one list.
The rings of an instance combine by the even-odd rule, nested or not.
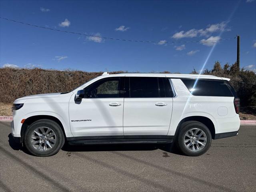
[(0, 191), (256, 191), (256, 127), (199, 157), (162, 145), (66, 146), (31, 156), (0, 122)]

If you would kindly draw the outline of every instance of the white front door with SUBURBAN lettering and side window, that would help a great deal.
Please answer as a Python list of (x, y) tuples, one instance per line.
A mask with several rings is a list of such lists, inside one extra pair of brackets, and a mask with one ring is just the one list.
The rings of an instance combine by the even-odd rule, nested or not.
[(70, 99), (70, 128), (74, 136), (123, 136), (124, 77), (109, 77), (86, 87), (81, 102)]

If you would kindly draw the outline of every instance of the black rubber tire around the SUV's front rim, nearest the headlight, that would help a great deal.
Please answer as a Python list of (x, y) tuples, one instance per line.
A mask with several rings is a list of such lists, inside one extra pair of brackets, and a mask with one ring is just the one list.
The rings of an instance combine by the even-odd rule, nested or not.
[[(56, 135), (56, 137), (54, 137), (56, 139), (54, 146), (52, 146), (52, 148), (47, 149), (45, 151), (37, 150), (31, 143), (31, 135), (34, 133), (34, 130), (36, 130), (39, 127), (50, 128)], [(27, 130), (24, 134), (24, 145), (25, 145), (26, 149), (28, 150), (28, 152), (30, 152), (31, 154), (33, 154), (35, 156), (47, 157), (47, 156), (55, 155), (56, 153), (59, 152), (59, 150), (62, 148), (64, 143), (65, 143), (65, 136), (63, 134), (63, 131), (62, 131), (61, 127), (59, 126), (59, 124), (54, 122), (53, 120), (48, 120), (48, 119), (37, 120), (36, 122), (32, 123), (27, 128)]]

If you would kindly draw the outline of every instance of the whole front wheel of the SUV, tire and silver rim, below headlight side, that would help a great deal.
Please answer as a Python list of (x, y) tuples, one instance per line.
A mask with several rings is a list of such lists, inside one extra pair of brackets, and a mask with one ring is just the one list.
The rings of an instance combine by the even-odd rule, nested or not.
[(48, 119), (32, 123), (24, 135), (25, 147), (35, 156), (52, 156), (62, 148), (64, 142), (59, 124)]

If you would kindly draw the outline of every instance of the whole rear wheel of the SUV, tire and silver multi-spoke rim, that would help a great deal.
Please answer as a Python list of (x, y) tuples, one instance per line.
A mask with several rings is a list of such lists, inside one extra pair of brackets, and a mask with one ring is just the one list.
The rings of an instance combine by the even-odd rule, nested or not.
[(178, 134), (178, 146), (187, 156), (200, 156), (211, 145), (210, 130), (202, 123), (196, 121), (185, 122)]

